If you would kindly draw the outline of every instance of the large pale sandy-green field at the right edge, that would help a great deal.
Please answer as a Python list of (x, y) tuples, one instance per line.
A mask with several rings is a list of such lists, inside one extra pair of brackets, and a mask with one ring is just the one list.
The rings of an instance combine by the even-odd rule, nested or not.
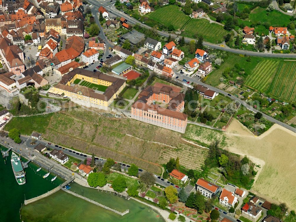
[(259, 197), (285, 202), (295, 208), (296, 195), (296, 133), (274, 124), (260, 136), (254, 136), (234, 119), (226, 132), (231, 152), (247, 155), (260, 165), (252, 190)]

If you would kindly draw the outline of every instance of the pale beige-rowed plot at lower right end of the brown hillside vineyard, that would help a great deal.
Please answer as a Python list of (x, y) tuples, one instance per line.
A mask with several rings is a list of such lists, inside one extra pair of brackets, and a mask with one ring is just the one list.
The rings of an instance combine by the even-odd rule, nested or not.
[(201, 170), (205, 162), (208, 149), (192, 146), (191, 144), (182, 144), (178, 149), (163, 149), (160, 155), (160, 163), (167, 163), (171, 157), (180, 158), (180, 164), (188, 169)]

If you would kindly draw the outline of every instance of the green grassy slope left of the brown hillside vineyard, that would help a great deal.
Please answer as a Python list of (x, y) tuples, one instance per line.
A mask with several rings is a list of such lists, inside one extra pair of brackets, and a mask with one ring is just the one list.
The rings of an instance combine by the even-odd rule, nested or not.
[(49, 124), (54, 113), (29, 116), (29, 117), (13, 117), (4, 127), (4, 130), (16, 128), (23, 135), (31, 135), (33, 131), (38, 133), (45, 133), (45, 130)]

